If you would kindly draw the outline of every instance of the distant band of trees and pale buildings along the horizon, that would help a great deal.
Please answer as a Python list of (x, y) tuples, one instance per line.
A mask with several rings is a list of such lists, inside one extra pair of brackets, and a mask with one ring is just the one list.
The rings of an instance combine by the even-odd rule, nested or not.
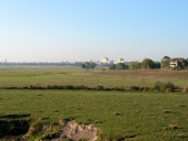
[(170, 58), (169, 56), (164, 56), (160, 62), (155, 62), (150, 58), (145, 58), (142, 62), (125, 62), (124, 58), (117, 58), (116, 61), (109, 59), (108, 57), (103, 57), (101, 61), (88, 61), (88, 62), (22, 62), (14, 63), (0, 62), (0, 66), (81, 66), (82, 68), (95, 68), (95, 67), (108, 67), (109, 69), (187, 69), (188, 58), (176, 57)]

